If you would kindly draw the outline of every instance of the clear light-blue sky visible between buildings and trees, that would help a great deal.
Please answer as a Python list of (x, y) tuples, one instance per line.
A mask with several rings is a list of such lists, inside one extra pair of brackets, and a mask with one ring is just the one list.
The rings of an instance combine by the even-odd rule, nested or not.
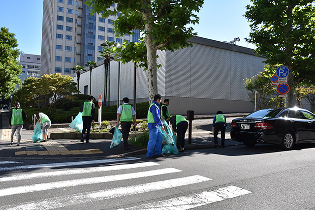
[[(246, 43), (250, 27), (243, 16), (250, 0), (204, 0), (198, 13), (199, 25), (193, 25), (200, 37), (217, 41), (231, 41), (236, 45), (254, 48)], [(26, 54), (41, 54), (43, 0), (0, 0), (0, 27), (15, 33), (18, 49)]]

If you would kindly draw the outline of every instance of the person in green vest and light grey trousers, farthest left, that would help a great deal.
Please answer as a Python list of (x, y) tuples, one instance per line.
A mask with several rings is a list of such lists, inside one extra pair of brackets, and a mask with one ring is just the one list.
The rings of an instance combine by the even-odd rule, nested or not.
[(21, 104), (19, 102), (14, 103), (14, 109), (10, 111), (9, 116), (9, 125), (11, 127), (11, 145), (13, 145), (13, 138), (15, 135), (15, 132), (17, 131), (18, 136), (18, 144), (16, 146), (20, 146), (21, 143), (21, 134), (22, 134), (22, 128), (24, 124), (24, 120), (26, 120), (27, 116), (25, 112), (20, 109)]

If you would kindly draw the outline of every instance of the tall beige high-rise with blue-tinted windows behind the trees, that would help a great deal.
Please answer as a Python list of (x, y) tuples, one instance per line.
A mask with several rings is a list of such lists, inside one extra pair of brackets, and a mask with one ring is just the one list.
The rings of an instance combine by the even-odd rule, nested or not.
[[(117, 16), (102, 18), (90, 13), (86, 0), (44, 0), (41, 45), (41, 75), (62, 73), (70, 75), (71, 68), (99, 61), (100, 46), (105, 40), (122, 43), (136, 42), (139, 30), (133, 35), (116, 38), (112, 21)], [(117, 7), (112, 4), (110, 9)], [(118, 14), (119, 16), (120, 14)]]

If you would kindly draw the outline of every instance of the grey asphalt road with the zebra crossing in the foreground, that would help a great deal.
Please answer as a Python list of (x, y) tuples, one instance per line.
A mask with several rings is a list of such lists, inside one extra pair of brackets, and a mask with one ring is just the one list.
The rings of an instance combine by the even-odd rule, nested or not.
[(314, 153), (314, 144), (239, 145), (158, 159), (0, 160), (0, 209), (314, 210)]

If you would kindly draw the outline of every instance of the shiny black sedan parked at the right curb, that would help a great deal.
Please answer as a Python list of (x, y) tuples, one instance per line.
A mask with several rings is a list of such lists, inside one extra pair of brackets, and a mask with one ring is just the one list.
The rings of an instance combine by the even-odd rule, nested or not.
[(296, 107), (262, 109), (232, 120), (230, 135), (250, 147), (271, 143), (291, 150), (295, 144), (315, 142), (315, 114)]

